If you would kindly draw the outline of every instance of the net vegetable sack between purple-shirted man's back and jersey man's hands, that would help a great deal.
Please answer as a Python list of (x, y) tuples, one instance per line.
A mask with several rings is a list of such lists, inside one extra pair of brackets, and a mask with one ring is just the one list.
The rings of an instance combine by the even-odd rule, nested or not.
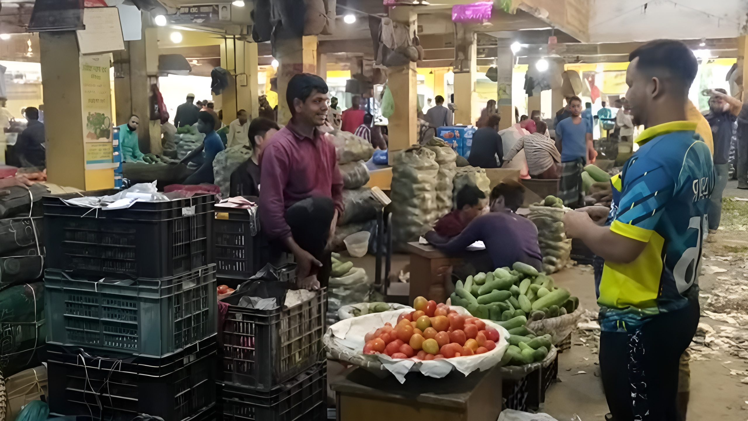
[(530, 206), (528, 219), (538, 227), (538, 243), (543, 255), (543, 271), (555, 273), (571, 259), (571, 239), (566, 238), (563, 216), (566, 210), (549, 206)]

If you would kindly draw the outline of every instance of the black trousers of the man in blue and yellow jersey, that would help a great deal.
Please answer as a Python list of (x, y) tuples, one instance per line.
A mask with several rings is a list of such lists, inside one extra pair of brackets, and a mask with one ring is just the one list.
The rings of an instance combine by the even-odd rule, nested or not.
[(699, 324), (699, 302), (634, 333), (602, 332), (600, 371), (613, 421), (680, 421), (678, 367)]

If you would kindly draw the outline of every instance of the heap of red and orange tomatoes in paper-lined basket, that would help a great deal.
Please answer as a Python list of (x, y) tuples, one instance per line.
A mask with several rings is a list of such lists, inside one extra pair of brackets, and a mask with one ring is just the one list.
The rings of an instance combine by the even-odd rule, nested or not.
[(364, 354), (387, 354), (393, 359), (439, 360), (484, 354), (496, 348), (498, 330), (479, 318), (459, 315), (444, 303), (414, 300), (410, 313), (403, 313), (393, 326), (367, 333)]

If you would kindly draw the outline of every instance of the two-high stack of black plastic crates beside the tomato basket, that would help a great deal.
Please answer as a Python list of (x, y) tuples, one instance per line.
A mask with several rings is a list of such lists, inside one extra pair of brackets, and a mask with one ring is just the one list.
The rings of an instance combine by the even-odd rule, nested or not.
[[(293, 267), (279, 271), (292, 279)], [(327, 386), (322, 334), (327, 291), (272, 310), (233, 305), (221, 336), (224, 421), (326, 420)]]

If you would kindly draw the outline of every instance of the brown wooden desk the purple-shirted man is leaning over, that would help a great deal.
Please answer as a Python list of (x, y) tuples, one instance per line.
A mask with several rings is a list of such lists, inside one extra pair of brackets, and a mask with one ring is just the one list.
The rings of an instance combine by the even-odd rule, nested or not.
[(408, 243), (405, 250), (411, 255), (410, 303), (415, 297), (426, 297), (437, 303), (444, 303), (444, 280), (437, 275), (439, 267), (461, 264), (461, 257), (450, 257), (430, 244)]

